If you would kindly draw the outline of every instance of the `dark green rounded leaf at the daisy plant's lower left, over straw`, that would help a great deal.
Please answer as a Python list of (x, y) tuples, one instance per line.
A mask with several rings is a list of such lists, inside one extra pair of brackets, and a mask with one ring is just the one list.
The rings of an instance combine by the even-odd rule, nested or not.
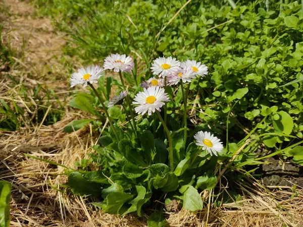
[(101, 195), (102, 184), (84, 179), (79, 172), (71, 173), (68, 176), (68, 185), (76, 195)]

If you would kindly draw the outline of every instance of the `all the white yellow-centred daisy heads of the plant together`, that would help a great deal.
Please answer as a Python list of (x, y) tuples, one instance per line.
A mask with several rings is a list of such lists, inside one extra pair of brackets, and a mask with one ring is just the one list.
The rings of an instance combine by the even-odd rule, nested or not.
[[(104, 68), (92, 65), (86, 69), (78, 69), (78, 72), (73, 73), (71, 76), (71, 87), (78, 84), (83, 84), (85, 87), (89, 83), (93, 88), (93, 85), (91, 84), (96, 83), (97, 80), (104, 75), (104, 70), (114, 70), (114, 72), (119, 72), (122, 80), (121, 73), (133, 70), (134, 62), (130, 56), (116, 53), (109, 55), (105, 59), (103, 67)], [(179, 82), (190, 83), (193, 79), (199, 76), (204, 77), (208, 74), (208, 67), (200, 62), (187, 60), (181, 63), (171, 56), (168, 58), (160, 57), (156, 59), (151, 64), (150, 70), (156, 76), (141, 82), (143, 91), (139, 91), (132, 102), (132, 104), (136, 105), (134, 108), (136, 113), (141, 115), (147, 113), (149, 116), (156, 111), (160, 112), (161, 107), (165, 105), (165, 102), (170, 101), (168, 94), (165, 92), (166, 86), (177, 85)], [(123, 81), (121, 82), (125, 89)], [(117, 104), (123, 104), (123, 100), (127, 95), (128, 91), (121, 91), (119, 95), (114, 96), (109, 100), (108, 106), (111, 107)], [(103, 104), (103, 101), (100, 101)], [(128, 104), (129, 109), (132, 109), (130, 103)], [(112, 125), (110, 119), (109, 121)], [(133, 121), (135, 120), (133, 119)], [(135, 126), (134, 122), (133, 124)], [(209, 132), (199, 131), (194, 135), (194, 139), (196, 140), (196, 145), (201, 146), (202, 149), (206, 150), (210, 155), (214, 154), (217, 156), (218, 153), (220, 154), (222, 152), (222, 142)]]

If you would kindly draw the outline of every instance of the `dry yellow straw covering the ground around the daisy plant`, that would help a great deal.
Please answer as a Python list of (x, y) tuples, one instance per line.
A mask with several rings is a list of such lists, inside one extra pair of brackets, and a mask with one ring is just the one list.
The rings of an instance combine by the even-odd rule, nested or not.
[[(27, 2), (6, 0), (6, 4), (11, 6), (12, 16), (5, 22), (5, 41), (17, 51), (24, 51), (24, 58), (16, 59), (9, 73), (26, 83), (29, 95), (37, 83), (56, 88), (58, 94), (64, 95), (67, 72), (58, 61), (65, 43), (63, 35), (53, 31), (48, 19), (35, 18), (35, 10)], [(17, 96), (17, 87), (11, 89), (8, 79), (0, 83), (0, 96), (10, 100), (15, 93), (18, 104), (26, 108), (27, 104)], [(1, 133), (0, 179), (12, 183), (11, 226), (146, 226), (145, 217), (105, 214), (86, 198), (59, 190), (67, 181), (64, 168), (23, 154), (73, 167), (92, 152), (89, 147), (99, 136), (90, 133), (89, 127), (64, 133), (63, 128), (75, 118), (81, 118), (81, 113), (66, 108), (65, 118), (52, 126), (27, 125), (17, 132)], [(303, 189), (295, 193), (289, 188), (268, 192), (257, 182), (249, 185), (238, 185), (242, 201), (221, 207), (208, 205), (200, 212), (181, 209), (165, 215), (171, 226), (303, 226)], [(221, 185), (222, 192), (227, 188), (228, 185)], [(212, 191), (201, 196), (205, 204), (215, 200)]]

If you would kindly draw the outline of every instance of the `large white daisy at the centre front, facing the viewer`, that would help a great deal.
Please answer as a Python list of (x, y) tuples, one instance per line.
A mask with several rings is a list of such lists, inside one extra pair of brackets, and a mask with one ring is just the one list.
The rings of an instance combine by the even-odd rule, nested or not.
[(139, 91), (133, 101), (133, 104), (138, 104), (139, 106), (135, 107), (137, 113), (148, 112), (148, 115), (151, 115), (151, 112), (155, 112), (156, 109), (161, 111), (161, 107), (165, 105), (164, 102), (169, 101), (169, 97), (165, 90), (161, 87), (151, 86), (149, 88), (144, 88), (143, 92)]

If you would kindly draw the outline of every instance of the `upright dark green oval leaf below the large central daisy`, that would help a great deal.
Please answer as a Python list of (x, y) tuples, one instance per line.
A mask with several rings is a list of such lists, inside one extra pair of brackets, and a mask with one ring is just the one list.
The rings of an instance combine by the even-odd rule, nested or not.
[(140, 137), (141, 146), (143, 150), (143, 156), (147, 162), (147, 164), (151, 164), (151, 160), (154, 159), (156, 155), (156, 147), (154, 135), (150, 131), (144, 131)]

